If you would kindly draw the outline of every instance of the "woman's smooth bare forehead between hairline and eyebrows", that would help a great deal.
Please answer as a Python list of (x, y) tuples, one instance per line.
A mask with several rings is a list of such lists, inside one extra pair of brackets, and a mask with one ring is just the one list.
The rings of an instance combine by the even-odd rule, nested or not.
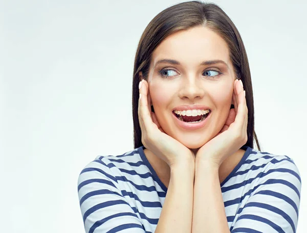
[(204, 60), (224, 60), (230, 66), (225, 40), (205, 27), (181, 30), (166, 37), (153, 51), (151, 66), (163, 58), (179, 60), (183, 66), (199, 66)]

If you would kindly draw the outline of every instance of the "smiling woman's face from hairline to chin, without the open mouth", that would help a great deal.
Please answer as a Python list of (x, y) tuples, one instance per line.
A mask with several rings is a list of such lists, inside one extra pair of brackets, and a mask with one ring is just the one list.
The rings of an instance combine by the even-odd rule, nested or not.
[[(177, 60), (180, 64), (159, 62)], [(203, 61), (223, 62), (201, 65)], [(221, 73), (220, 73), (221, 72)], [(232, 101), (235, 75), (226, 42), (204, 27), (179, 31), (153, 51), (148, 73), (149, 94), (166, 134), (190, 149), (198, 149), (223, 128)], [(211, 112), (199, 129), (185, 129), (173, 115), (181, 105), (202, 104)]]

